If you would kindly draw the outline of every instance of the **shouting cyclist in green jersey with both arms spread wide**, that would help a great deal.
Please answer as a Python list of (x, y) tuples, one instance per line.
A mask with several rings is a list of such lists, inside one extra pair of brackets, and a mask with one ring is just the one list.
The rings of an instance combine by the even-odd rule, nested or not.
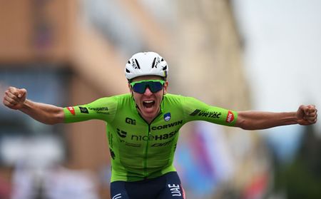
[(26, 98), (26, 89), (9, 87), (3, 103), (46, 124), (89, 119), (106, 121), (111, 153), (111, 198), (185, 198), (173, 167), (178, 131), (189, 121), (258, 130), (317, 121), (313, 105), (272, 113), (230, 111), (195, 98), (167, 93), (168, 64), (154, 52), (134, 54), (126, 63), (130, 93), (61, 108)]

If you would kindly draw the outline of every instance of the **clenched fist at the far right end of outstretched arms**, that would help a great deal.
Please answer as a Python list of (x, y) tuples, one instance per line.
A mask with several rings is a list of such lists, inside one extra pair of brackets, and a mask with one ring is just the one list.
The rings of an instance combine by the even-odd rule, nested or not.
[(314, 105), (301, 105), (297, 109), (297, 123), (300, 125), (310, 125), (317, 122), (317, 108)]

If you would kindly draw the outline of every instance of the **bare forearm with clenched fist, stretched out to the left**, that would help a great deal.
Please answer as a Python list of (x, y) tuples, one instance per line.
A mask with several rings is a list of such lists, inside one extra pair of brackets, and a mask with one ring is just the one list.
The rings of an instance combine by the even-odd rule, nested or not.
[(5, 106), (19, 110), (46, 124), (63, 123), (63, 108), (46, 103), (37, 103), (26, 98), (26, 89), (9, 87), (4, 93)]

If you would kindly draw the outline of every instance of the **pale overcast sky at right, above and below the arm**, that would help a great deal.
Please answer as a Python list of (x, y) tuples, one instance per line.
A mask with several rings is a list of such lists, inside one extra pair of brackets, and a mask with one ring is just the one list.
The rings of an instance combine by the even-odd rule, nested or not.
[[(302, 103), (312, 103), (321, 110), (321, 1), (233, 2), (245, 41), (244, 65), (253, 108), (295, 111)], [(279, 145), (289, 141), (287, 147), (293, 148), (300, 130), (287, 126), (264, 133)], [(317, 130), (321, 132), (320, 122)]]

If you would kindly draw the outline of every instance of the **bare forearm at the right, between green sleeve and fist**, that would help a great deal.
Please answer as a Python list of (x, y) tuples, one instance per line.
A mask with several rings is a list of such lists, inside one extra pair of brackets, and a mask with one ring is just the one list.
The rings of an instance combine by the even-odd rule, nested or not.
[(260, 130), (296, 123), (296, 112), (272, 113), (264, 111), (240, 111), (238, 112), (238, 121), (235, 126), (245, 130)]

